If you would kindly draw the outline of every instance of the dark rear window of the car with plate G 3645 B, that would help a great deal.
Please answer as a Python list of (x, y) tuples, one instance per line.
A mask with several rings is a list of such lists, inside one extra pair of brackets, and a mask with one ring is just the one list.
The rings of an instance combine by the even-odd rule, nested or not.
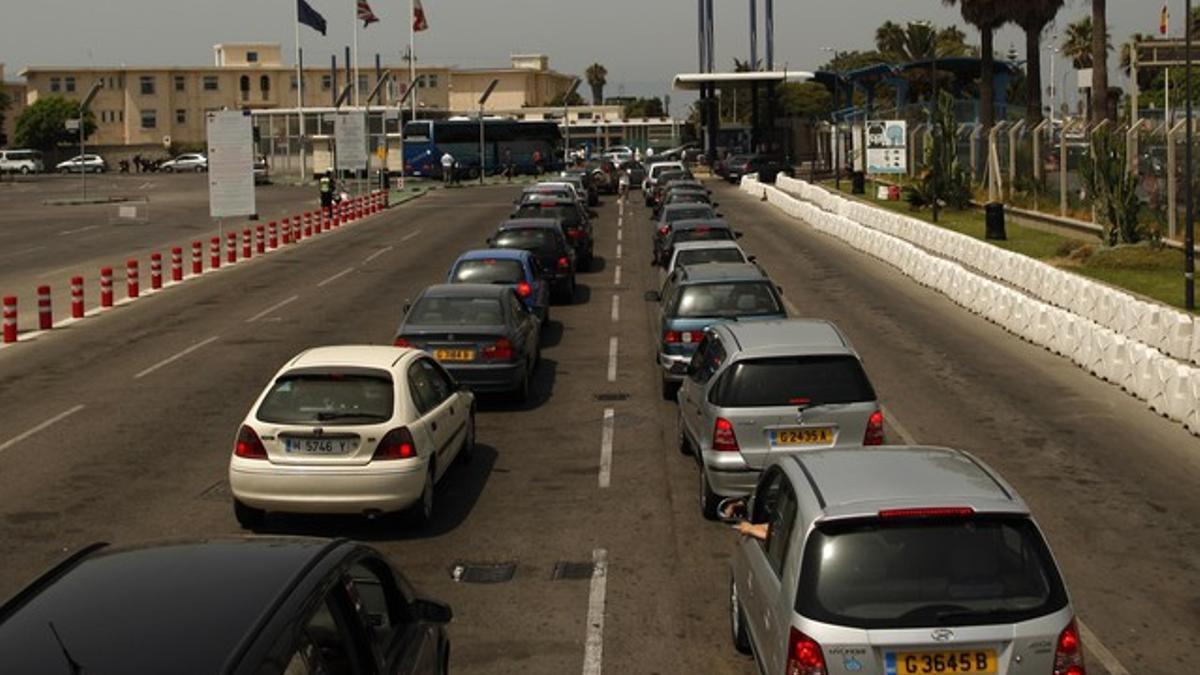
[(1028, 518), (876, 519), (818, 525), (796, 610), (856, 628), (1014, 623), (1066, 607)]

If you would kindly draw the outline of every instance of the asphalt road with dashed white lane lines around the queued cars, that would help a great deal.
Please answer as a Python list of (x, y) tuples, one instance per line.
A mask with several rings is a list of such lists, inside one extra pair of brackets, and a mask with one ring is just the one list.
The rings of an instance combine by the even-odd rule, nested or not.
[[(899, 273), (732, 189), (718, 195), (797, 313), (832, 318), (854, 341), (890, 440), (958, 446), (996, 466), (1127, 671), (1189, 670), (1200, 443)], [(389, 342), (404, 300), (482, 245), (511, 198), (433, 192), (0, 351), (0, 596), (96, 539), (238, 534), (224, 473), (266, 380), (308, 346)], [(612, 199), (600, 214), (596, 264), (576, 304), (552, 310), (533, 401), (484, 401), (478, 459), (448, 474), (430, 530), (278, 518), (269, 531), (380, 546), (454, 607), (456, 673), (557, 675), (601, 659), (606, 673), (749, 674), (728, 641), (732, 534), (700, 518), (695, 466), (659, 399), (655, 307), (642, 300), (659, 283), (650, 225), (636, 199), (624, 217)], [(595, 560), (602, 581), (554, 580), (558, 563)], [(516, 573), (458, 583), (461, 563)], [(1090, 667), (1105, 671), (1094, 653)]]

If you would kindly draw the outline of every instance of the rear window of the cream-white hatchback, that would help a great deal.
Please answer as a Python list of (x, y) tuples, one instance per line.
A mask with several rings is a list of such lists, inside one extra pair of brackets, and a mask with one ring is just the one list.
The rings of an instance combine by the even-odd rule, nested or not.
[(274, 424), (376, 424), (391, 419), (391, 377), (320, 372), (284, 375), (258, 406), (258, 419)]

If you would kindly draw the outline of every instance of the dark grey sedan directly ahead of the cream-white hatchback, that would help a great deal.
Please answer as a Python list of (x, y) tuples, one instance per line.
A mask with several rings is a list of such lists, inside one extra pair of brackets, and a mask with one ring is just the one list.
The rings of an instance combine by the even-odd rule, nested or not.
[(529, 396), (541, 359), (541, 321), (510, 286), (430, 286), (396, 329), (396, 345), (425, 350), (474, 392)]

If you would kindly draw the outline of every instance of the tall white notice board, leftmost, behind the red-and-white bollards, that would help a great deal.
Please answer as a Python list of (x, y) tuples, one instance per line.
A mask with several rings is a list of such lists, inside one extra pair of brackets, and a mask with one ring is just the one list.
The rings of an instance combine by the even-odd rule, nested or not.
[(254, 132), (250, 112), (205, 114), (209, 138), (209, 215), (248, 216), (254, 203)]

